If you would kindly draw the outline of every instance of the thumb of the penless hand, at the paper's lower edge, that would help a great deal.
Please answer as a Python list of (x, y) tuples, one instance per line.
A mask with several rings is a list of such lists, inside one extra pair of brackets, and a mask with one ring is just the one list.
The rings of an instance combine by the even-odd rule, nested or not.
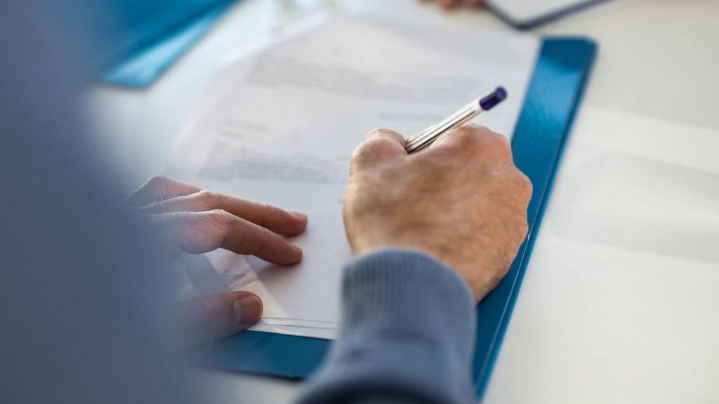
[(260, 321), (262, 300), (255, 293), (230, 292), (176, 303), (175, 310), (186, 344), (204, 344)]

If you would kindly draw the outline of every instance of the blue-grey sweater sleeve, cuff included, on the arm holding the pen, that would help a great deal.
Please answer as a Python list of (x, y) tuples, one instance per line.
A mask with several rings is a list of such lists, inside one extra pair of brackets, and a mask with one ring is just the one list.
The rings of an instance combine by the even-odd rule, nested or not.
[(475, 300), (426, 254), (386, 249), (347, 265), (342, 331), (300, 404), (475, 403)]

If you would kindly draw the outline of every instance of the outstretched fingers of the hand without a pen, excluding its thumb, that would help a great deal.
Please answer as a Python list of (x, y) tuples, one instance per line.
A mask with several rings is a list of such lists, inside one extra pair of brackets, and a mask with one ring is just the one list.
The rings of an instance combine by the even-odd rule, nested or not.
[(165, 177), (151, 178), (127, 198), (149, 214), (168, 240), (170, 255), (229, 249), (280, 265), (296, 264), (302, 250), (282, 236), (305, 230), (307, 216), (263, 203), (201, 190)]

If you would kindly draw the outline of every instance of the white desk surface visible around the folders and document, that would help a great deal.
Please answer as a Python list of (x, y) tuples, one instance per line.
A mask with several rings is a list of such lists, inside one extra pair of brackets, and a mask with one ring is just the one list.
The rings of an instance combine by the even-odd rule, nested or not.
[[(413, 0), (338, 9), (508, 30)], [(240, 1), (148, 91), (93, 109), (129, 181), (162, 172), (227, 52), (297, 18)], [(485, 403), (719, 403), (719, 1), (616, 0), (539, 29), (600, 44)], [(228, 403), (288, 403), (295, 383), (202, 372)]]

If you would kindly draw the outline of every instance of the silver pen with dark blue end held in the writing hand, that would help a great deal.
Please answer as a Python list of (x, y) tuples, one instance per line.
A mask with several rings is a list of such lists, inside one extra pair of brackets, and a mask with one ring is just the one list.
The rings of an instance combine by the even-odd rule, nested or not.
[(439, 122), (439, 124), (424, 129), (422, 132), (407, 139), (405, 150), (411, 154), (426, 149), (445, 132), (470, 123), (472, 119), (480, 116), (482, 112), (493, 109), (497, 104), (504, 101), (505, 98), (507, 98), (507, 91), (503, 87), (495, 88), (494, 91), (486, 96), (475, 98), (470, 104), (463, 106), (459, 111), (446, 117), (443, 121)]

